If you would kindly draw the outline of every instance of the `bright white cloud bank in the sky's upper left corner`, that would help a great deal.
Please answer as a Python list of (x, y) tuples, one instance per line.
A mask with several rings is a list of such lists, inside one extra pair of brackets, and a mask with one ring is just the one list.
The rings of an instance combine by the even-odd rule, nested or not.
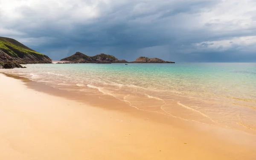
[[(87, 20), (99, 17), (98, 1), (90, 0), (0, 0), (3, 21)], [(27, 17), (29, 16), (29, 17)]]

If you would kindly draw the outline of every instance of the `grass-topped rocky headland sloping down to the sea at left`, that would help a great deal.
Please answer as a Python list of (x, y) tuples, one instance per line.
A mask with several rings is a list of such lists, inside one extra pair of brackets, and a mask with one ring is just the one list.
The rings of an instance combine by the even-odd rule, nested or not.
[(0, 68), (23, 68), (20, 64), (52, 63), (52, 60), (12, 38), (0, 37)]

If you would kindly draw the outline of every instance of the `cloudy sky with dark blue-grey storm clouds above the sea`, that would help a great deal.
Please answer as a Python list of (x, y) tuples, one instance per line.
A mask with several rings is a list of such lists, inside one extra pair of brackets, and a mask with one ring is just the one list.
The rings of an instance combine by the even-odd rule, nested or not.
[(52, 60), (256, 62), (256, 0), (0, 0), (0, 36)]

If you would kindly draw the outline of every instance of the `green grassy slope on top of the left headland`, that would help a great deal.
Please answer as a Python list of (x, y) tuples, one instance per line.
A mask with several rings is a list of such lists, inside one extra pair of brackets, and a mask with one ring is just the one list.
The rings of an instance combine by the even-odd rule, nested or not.
[(16, 40), (6, 37), (0, 37), (0, 49), (6, 52), (6, 54), (8, 54), (11, 57), (20, 57), (20, 53), (43, 55), (32, 49), (29, 49), (28, 47), (24, 46)]

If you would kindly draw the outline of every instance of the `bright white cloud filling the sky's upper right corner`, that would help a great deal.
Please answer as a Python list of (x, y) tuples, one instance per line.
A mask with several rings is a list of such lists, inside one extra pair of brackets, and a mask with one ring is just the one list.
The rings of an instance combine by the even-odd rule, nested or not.
[(210, 31), (237, 31), (256, 27), (255, 0), (221, 0), (214, 9), (201, 14), (200, 25)]

